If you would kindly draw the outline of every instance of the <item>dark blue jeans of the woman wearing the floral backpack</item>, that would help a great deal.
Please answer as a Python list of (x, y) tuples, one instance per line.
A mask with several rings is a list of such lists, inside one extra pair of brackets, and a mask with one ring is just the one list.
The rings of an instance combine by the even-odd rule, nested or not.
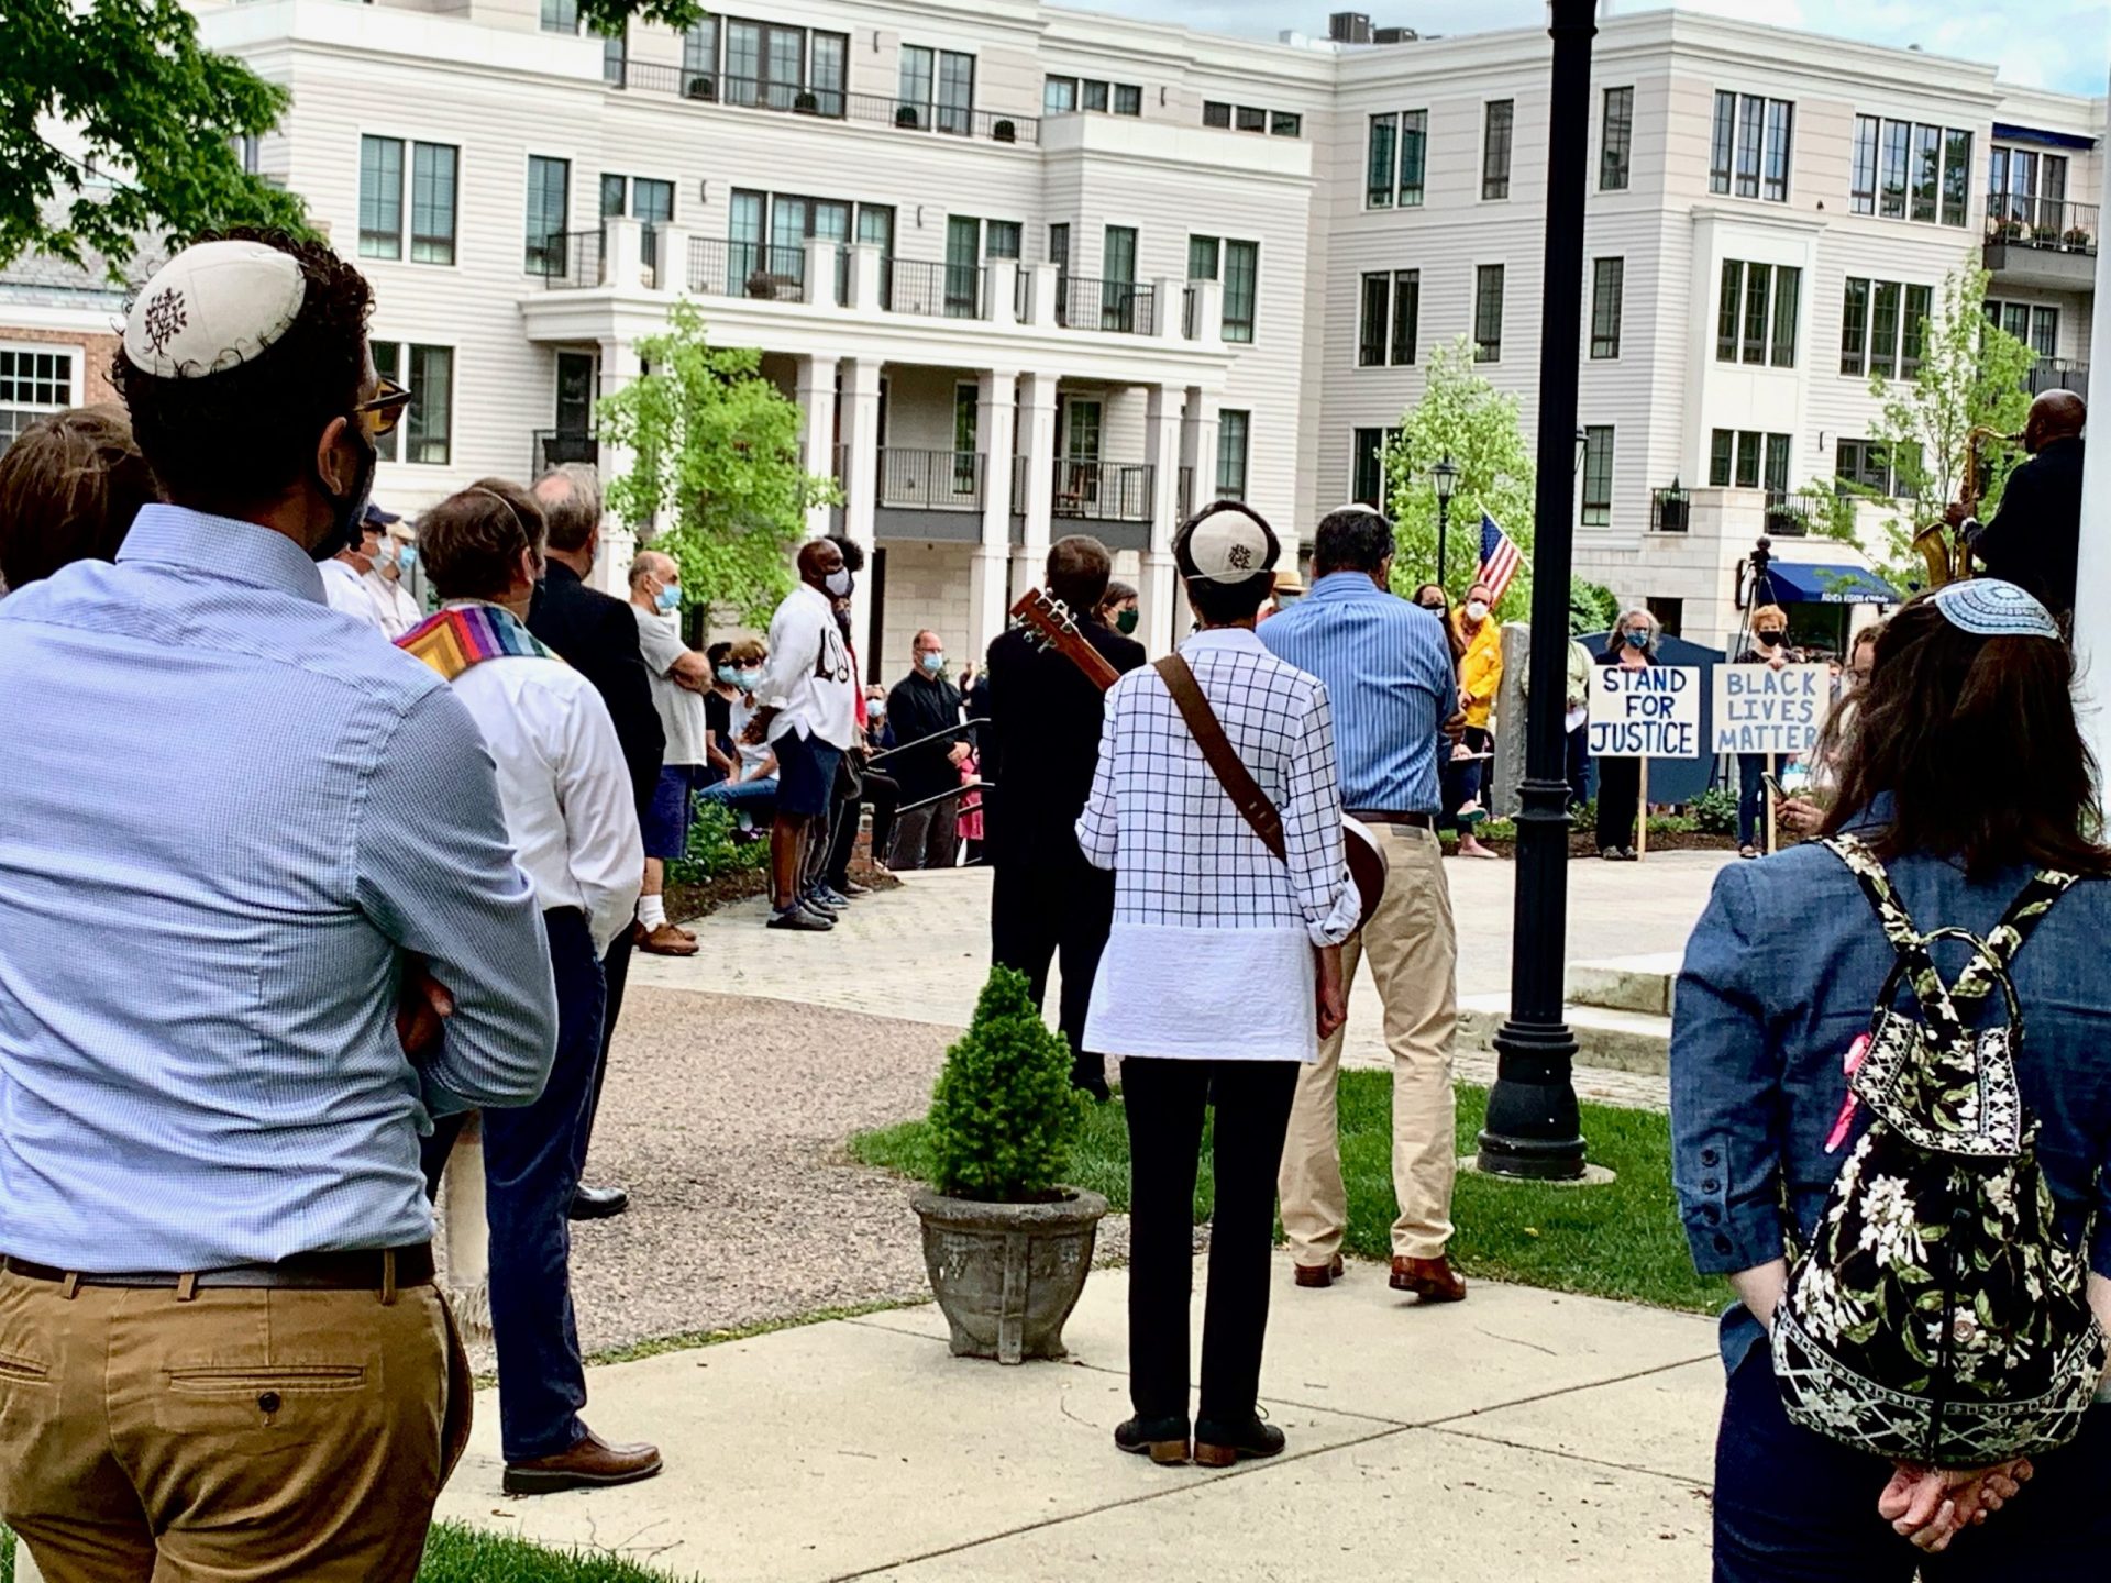
[(1716, 1583), (2027, 1583), (2100, 1577), (2111, 1553), (2111, 1408), (2033, 1458), (2035, 1477), (1982, 1528), (1921, 1556), (1877, 1515), (1881, 1456), (1790, 1423), (1767, 1347), (1729, 1380), (1716, 1439)]

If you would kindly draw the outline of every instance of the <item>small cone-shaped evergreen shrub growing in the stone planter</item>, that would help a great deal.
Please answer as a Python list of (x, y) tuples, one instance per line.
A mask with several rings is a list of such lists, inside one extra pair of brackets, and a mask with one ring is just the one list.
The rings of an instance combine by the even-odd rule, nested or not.
[(931, 1095), (931, 1184), (994, 1203), (1041, 1197), (1068, 1169), (1087, 1104), (1070, 1087), (1070, 1047), (1041, 1022), (1026, 975), (990, 969)]

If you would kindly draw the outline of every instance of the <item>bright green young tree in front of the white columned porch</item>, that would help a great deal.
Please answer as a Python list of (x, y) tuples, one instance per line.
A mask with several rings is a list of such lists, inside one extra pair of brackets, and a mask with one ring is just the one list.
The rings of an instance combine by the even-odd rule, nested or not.
[(669, 513), (652, 549), (680, 564), (682, 597), (762, 621), (792, 585), (806, 507), (842, 496), (802, 466), (798, 403), (762, 378), (762, 352), (711, 346), (697, 304), (678, 302), (638, 355), (648, 371), (595, 407), (602, 443), (635, 458), (608, 507), (631, 523)]

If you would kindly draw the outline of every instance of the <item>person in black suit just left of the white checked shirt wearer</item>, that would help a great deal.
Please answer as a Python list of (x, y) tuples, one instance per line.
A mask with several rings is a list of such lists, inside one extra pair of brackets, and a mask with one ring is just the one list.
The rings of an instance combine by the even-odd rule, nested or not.
[[(1144, 663), (1144, 646), (1106, 627), (1100, 599), (1110, 570), (1106, 545), (1085, 534), (1049, 545), (1047, 593), (1077, 616), (1085, 642), (1117, 671)], [(990, 724), (982, 728), (984, 846), (996, 870), (990, 893), (990, 956), (1047, 992), (1062, 952), (1062, 1034), (1070, 1081), (1106, 1098), (1106, 1064), (1085, 1049), (1085, 1009), (1115, 922), (1115, 876), (1077, 846), (1077, 817), (1100, 764), (1106, 694), (1074, 663), (1024, 631), (990, 644), (984, 667)]]

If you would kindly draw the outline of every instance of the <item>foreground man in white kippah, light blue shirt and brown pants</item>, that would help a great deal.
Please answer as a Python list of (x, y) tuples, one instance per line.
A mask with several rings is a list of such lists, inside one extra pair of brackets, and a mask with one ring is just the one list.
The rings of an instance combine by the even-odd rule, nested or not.
[(167, 504), (0, 604), (0, 1520), (49, 1583), (407, 1583), (469, 1433), (418, 1136), (534, 1100), (557, 1005), (475, 722), (323, 602), (405, 403), (369, 306), (321, 243), (169, 260), (114, 365)]

